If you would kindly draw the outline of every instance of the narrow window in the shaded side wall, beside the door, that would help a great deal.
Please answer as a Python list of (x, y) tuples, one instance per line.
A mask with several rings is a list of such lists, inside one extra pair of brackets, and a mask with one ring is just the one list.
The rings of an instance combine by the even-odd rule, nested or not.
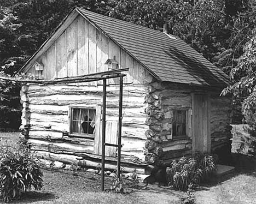
[(174, 110), (172, 119), (173, 138), (187, 137), (191, 135), (189, 110)]

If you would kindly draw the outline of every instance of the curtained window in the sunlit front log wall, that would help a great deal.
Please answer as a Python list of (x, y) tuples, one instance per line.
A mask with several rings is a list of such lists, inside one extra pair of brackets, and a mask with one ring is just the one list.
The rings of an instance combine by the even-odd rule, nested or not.
[(71, 107), (70, 133), (74, 136), (94, 137), (96, 110)]

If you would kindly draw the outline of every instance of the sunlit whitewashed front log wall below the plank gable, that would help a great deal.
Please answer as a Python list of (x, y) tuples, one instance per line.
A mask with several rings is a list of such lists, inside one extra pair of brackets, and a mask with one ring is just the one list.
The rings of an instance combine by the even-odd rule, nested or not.
[[(79, 160), (81, 164), (85, 164), (83, 159), (86, 158), (88, 163), (88, 158), (95, 154), (95, 141), (89, 138), (68, 136), (69, 105), (101, 106), (102, 86), (26, 85), (22, 86), (20, 94), (24, 107), (21, 137), (31, 144), (31, 149), (40, 152), (40, 155), (45, 153), (45, 156), (61, 154), (67, 155), (68, 158), (73, 155), (82, 158)], [(144, 133), (148, 129), (148, 125), (145, 124), (147, 104), (144, 103), (144, 98), (146, 95), (146, 87), (143, 85), (124, 86), (122, 127), (124, 146), (121, 148), (121, 155), (123, 166), (133, 161), (135, 169), (146, 165), (143, 162), (144, 143), (147, 141)], [(107, 122), (118, 121), (118, 107), (119, 86), (109, 85), (107, 87)], [(100, 158), (92, 160), (95, 164), (100, 164)]]

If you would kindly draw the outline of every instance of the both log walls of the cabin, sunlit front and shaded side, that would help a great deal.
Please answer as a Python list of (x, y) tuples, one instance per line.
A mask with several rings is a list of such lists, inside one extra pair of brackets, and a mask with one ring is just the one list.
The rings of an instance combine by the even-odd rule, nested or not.
[[(187, 123), (187, 137), (173, 137), (172, 111), (187, 110), (192, 114), (192, 93), (202, 93), (202, 90), (163, 82), (124, 86), (123, 159), (136, 158), (145, 165), (144, 161), (154, 164), (191, 155), (191, 121)], [(230, 100), (216, 93), (210, 95), (211, 150), (215, 153), (230, 142)], [(102, 86), (23, 86), (21, 100), (24, 107), (21, 137), (31, 143), (34, 151), (82, 158), (84, 154), (87, 160), (88, 155), (95, 154), (94, 139), (68, 137), (68, 112), (71, 104), (101, 105)], [(118, 87), (109, 85), (107, 121), (118, 121), (118, 105)]]

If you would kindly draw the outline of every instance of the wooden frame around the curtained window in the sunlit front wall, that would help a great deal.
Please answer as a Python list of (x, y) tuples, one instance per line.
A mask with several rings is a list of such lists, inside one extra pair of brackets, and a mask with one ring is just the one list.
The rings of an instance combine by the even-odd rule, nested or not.
[[(82, 138), (89, 138), (89, 139), (95, 139), (95, 133), (94, 134), (88, 134), (88, 133), (72, 133), (72, 125), (73, 125), (73, 111), (74, 109), (91, 109), (91, 110), (95, 110), (95, 115), (97, 116), (96, 113), (96, 105), (69, 105), (69, 137), (82, 137)], [(95, 128), (96, 128), (96, 118), (95, 118)]]

